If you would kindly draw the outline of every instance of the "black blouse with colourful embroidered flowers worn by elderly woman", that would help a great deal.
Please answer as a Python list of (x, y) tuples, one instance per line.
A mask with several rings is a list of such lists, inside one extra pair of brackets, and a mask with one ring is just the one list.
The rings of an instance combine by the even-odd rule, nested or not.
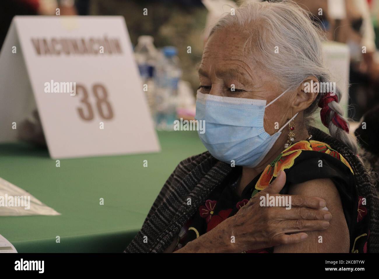
[[(341, 154), (329, 145), (315, 140), (302, 140), (282, 151), (260, 175), (243, 190), (241, 197), (235, 187), (241, 167), (235, 167), (229, 177), (219, 185), (201, 205), (196, 214), (182, 227), (176, 249), (209, 232), (225, 219), (233, 216), (259, 191), (265, 189), (284, 170), (287, 181), (280, 192), (287, 194), (291, 184), (318, 178), (330, 178), (338, 189), (350, 235), (350, 252), (366, 253), (369, 220), (366, 218), (365, 199), (354, 185), (354, 172)], [(248, 253), (269, 253), (274, 247), (250, 250)]]

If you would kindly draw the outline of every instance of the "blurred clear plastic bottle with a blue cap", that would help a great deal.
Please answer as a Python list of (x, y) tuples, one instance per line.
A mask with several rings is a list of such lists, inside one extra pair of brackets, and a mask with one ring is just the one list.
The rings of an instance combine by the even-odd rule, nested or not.
[(163, 47), (158, 55), (155, 74), (155, 124), (158, 130), (172, 131), (174, 128), (181, 76), (177, 49)]

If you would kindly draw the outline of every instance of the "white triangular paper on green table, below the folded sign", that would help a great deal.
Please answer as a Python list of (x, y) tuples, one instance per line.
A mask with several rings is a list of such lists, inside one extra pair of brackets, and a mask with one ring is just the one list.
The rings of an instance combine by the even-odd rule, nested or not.
[(0, 216), (61, 215), (27, 191), (0, 177)]

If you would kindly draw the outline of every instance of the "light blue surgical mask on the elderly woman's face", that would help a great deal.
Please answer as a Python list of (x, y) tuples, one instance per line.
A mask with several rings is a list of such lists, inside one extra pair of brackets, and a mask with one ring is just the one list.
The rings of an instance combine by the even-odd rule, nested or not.
[(199, 137), (216, 159), (236, 166), (256, 167), (282, 133), (282, 128), (270, 136), (263, 127), (265, 109), (283, 96), (266, 105), (266, 100), (233, 98), (203, 94), (197, 91), (196, 120), (205, 120), (206, 128)]

